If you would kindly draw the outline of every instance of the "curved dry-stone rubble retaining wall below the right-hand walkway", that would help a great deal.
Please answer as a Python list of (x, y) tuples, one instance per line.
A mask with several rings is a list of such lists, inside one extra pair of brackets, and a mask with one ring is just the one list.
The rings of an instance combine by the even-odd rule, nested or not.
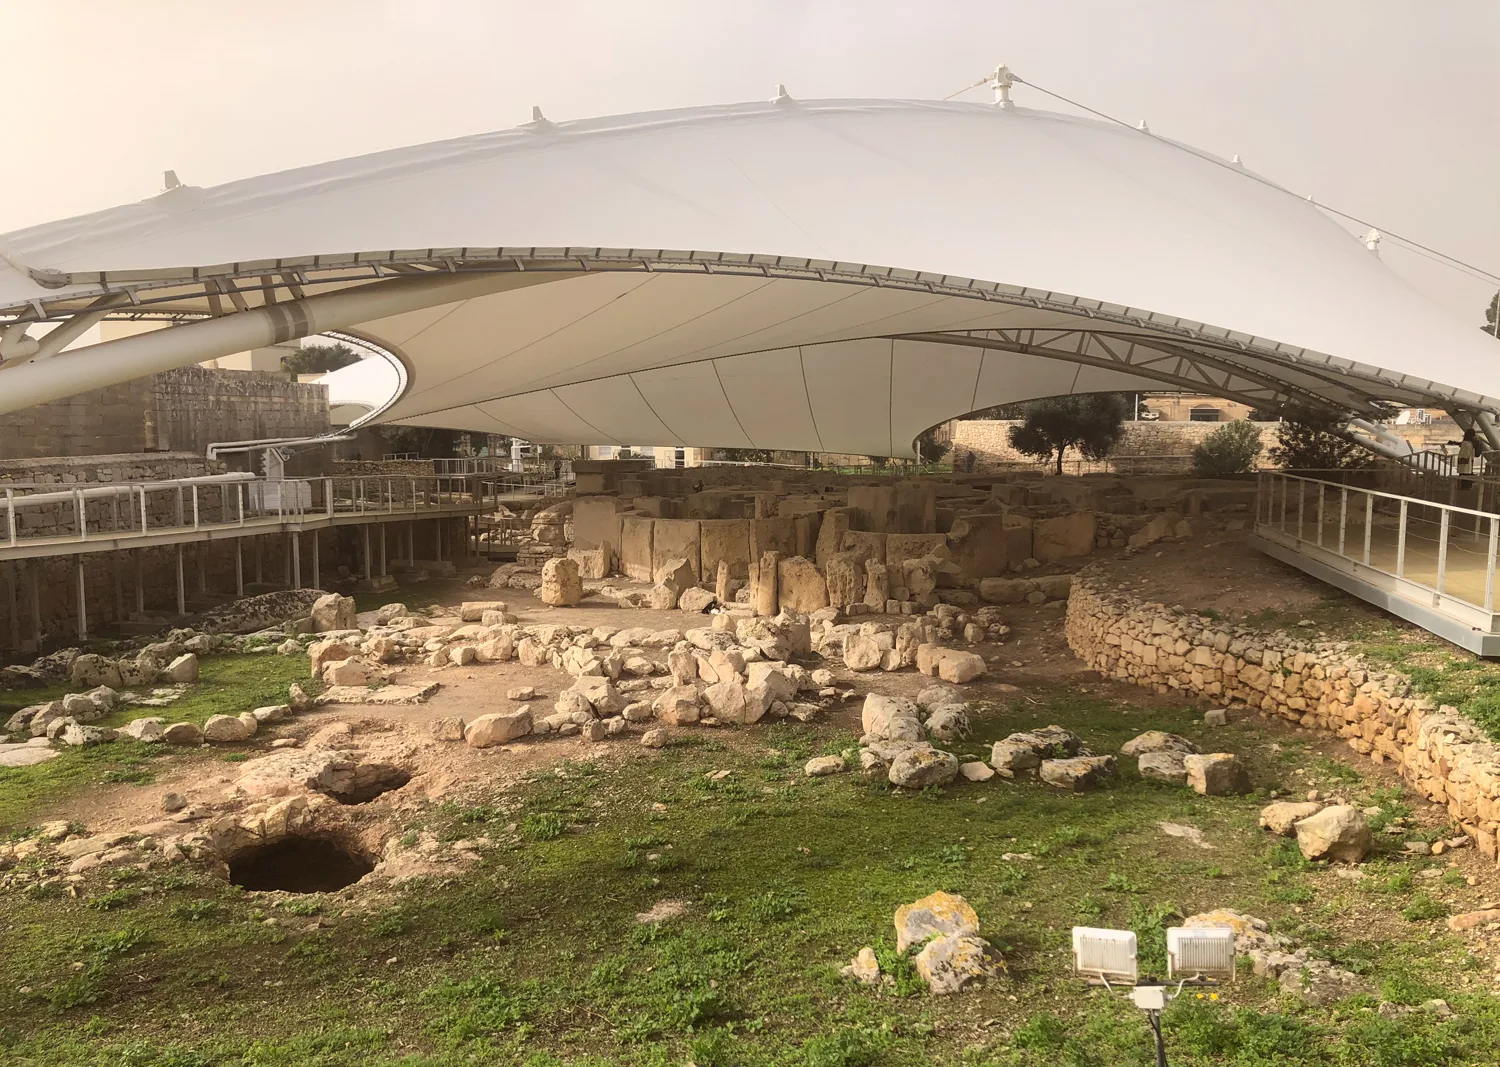
[(1104, 677), (1256, 708), (1395, 764), (1496, 858), (1500, 746), (1347, 644), (1221, 626), (1119, 593), (1094, 569), (1074, 578), (1065, 629), (1072, 651)]

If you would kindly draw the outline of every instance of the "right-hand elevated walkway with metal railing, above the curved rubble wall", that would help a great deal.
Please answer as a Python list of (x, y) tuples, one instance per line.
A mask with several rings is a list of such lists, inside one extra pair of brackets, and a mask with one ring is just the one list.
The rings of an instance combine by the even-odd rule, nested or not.
[[(1262, 471), (1251, 545), (1479, 656), (1500, 656), (1500, 515), (1485, 486), (1450, 479), (1456, 503)], [(1488, 495), (1486, 501), (1488, 503)]]

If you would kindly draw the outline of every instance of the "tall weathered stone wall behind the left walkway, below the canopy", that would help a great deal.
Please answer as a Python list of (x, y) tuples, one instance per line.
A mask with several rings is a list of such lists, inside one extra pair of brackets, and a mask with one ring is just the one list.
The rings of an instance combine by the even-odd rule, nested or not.
[(328, 389), (272, 371), (184, 366), (0, 417), (0, 459), (196, 452), (328, 429)]

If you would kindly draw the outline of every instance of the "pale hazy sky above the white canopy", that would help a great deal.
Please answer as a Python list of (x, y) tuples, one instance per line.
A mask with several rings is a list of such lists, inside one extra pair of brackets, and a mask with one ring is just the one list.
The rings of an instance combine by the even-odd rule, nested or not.
[[(1005, 62), (1500, 272), (1497, 0), (0, 0), (0, 231), (141, 200), (168, 168), (216, 185), (532, 104), (934, 99)], [(1496, 284), (1382, 252), (1484, 321)]]

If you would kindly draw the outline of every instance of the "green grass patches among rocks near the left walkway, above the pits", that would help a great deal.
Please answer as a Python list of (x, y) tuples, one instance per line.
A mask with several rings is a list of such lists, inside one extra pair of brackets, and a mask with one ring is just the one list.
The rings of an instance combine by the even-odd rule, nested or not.
[[(316, 692), (306, 656), (213, 656), (202, 660), (200, 683), (164, 708), (123, 708), (99, 720), (123, 726), (132, 719), (162, 716), (168, 722), (204, 722), (213, 714), (238, 714), (267, 704), (285, 704), (286, 686)], [(27, 692), (28, 702), (32, 692)], [(44, 698), (45, 699), (45, 698)], [(224, 756), (224, 752), (218, 753)], [(231, 753), (232, 755), (232, 753)], [(34, 821), (45, 804), (98, 785), (150, 783), (158, 768), (178, 761), (213, 758), (200, 749), (116, 741), (93, 749), (63, 749), (34, 767), (0, 767), (0, 836)]]

